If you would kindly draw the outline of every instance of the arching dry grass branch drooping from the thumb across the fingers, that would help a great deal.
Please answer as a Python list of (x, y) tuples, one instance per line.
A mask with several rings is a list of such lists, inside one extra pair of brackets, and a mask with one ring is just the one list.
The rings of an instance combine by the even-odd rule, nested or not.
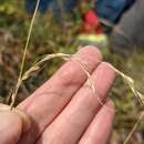
[[(38, 60), (37, 62), (34, 62), (34, 64), (23, 73), (23, 75), (21, 76), (21, 79), (19, 79), (17, 85), (16, 85), (16, 90), (12, 93), (11, 96), (11, 107), (14, 105), (16, 101), (17, 101), (17, 95), (18, 95), (18, 91), (22, 84), (23, 81), (25, 81), (27, 79), (29, 79), (33, 72), (37, 72), (41, 69), (41, 65), (43, 63), (45, 63), (47, 61), (54, 59), (54, 58), (62, 58), (65, 61), (78, 61), (81, 69), (84, 71), (84, 73), (88, 76), (88, 82), (89, 82), (89, 88), (92, 89), (93, 93), (95, 93), (95, 86), (93, 84), (93, 81), (91, 79), (91, 74), (89, 73), (89, 71), (86, 70), (86, 62), (80, 60), (79, 58), (75, 58), (73, 54), (64, 54), (64, 53), (54, 53), (54, 54), (47, 54), (44, 56), (42, 56), (42, 59)], [(99, 96), (96, 96), (97, 101), (100, 102), (101, 105), (103, 105), (103, 102), (101, 101), (101, 99)]]

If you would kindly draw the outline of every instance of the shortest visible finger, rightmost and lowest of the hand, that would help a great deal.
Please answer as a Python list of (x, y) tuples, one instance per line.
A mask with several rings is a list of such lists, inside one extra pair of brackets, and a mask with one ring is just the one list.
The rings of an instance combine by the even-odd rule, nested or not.
[(79, 144), (106, 144), (112, 132), (114, 114), (113, 102), (106, 102), (95, 115)]

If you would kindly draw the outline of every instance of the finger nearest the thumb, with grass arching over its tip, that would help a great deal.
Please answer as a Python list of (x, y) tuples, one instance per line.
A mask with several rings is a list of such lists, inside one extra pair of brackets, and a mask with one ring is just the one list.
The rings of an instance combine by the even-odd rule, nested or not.
[[(80, 50), (75, 56), (88, 63), (90, 72), (95, 69), (102, 59), (100, 51), (92, 47)], [(23, 137), (27, 143), (32, 143), (32, 137), (35, 140), (45, 126), (53, 121), (85, 80), (86, 75), (79, 62), (66, 62), (45, 84), (19, 105), (37, 123)]]

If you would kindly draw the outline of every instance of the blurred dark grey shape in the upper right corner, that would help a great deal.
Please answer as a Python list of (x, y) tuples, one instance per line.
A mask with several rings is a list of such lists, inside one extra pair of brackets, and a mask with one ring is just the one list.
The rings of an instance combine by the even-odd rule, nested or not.
[(111, 34), (114, 52), (127, 54), (134, 48), (144, 49), (144, 0), (136, 0)]

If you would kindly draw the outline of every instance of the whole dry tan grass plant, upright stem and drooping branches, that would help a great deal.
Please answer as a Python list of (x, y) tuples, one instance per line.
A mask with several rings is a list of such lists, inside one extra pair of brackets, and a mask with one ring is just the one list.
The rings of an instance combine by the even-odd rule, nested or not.
[[(34, 72), (40, 71), (42, 69), (43, 64), (47, 61), (49, 61), (51, 59), (55, 59), (55, 58), (61, 58), (64, 61), (76, 61), (76, 62), (79, 62), (81, 69), (84, 71), (84, 73), (88, 76), (89, 88), (94, 93), (96, 91), (96, 88), (94, 88), (93, 81), (91, 79), (91, 74), (89, 73), (89, 71), (86, 69), (86, 63), (84, 62), (84, 60), (80, 60), (74, 54), (65, 54), (65, 53), (45, 54), (45, 55), (41, 56), (38, 61), (35, 61), (29, 70), (27, 70), (25, 72), (23, 72), (25, 60), (27, 60), (27, 52), (29, 50), (29, 43), (30, 43), (31, 32), (32, 32), (32, 28), (33, 28), (34, 20), (35, 20), (35, 17), (37, 17), (39, 3), (40, 3), (40, 0), (37, 1), (35, 10), (33, 12), (33, 17), (32, 17), (32, 20), (31, 20), (31, 23), (30, 23), (30, 28), (29, 28), (29, 32), (28, 32), (28, 38), (27, 38), (27, 42), (25, 42), (25, 47), (24, 47), (24, 51), (23, 51), (23, 55), (22, 55), (22, 62), (21, 62), (21, 66), (20, 66), (20, 73), (19, 73), (18, 82), (17, 82), (16, 88), (13, 89), (12, 94), (11, 94), (11, 103), (10, 103), (11, 110), (13, 109), (13, 106), (16, 104), (16, 101), (17, 101), (17, 97), (18, 97), (18, 92), (19, 92), (19, 89), (20, 89), (22, 82), (25, 81), (27, 79), (29, 79)], [(110, 65), (110, 66), (128, 85), (130, 90), (132, 91), (132, 93), (134, 94), (134, 96), (138, 100), (140, 104), (144, 105), (144, 95), (137, 90), (135, 81), (131, 76), (128, 76), (128, 75), (124, 74), (123, 72), (121, 72), (120, 70), (117, 70), (116, 68), (114, 68), (112, 65)], [(100, 97), (97, 97), (97, 101), (100, 102), (101, 105), (103, 105), (103, 102), (101, 101)], [(140, 114), (138, 120), (136, 121), (135, 125), (133, 126), (131, 133), (128, 134), (128, 136), (126, 137), (126, 140), (125, 140), (125, 142), (123, 144), (126, 144), (130, 141), (132, 134), (137, 128), (137, 126), (138, 126), (140, 122), (142, 121), (143, 116), (144, 116), (144, 112), (142, 112)]]

